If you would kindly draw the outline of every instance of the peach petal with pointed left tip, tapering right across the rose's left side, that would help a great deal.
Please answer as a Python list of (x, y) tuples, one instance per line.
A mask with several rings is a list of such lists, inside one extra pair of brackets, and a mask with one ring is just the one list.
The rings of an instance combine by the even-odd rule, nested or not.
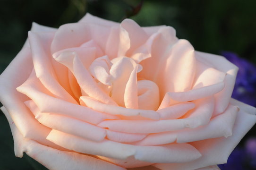
[(24, 93), (31, 98), (41, 112), (67, 115), (92, 124), (97, 124), (104, 119), (117, 119), (117, 117), (114, 117), (113, 115), (96, 112), (87, 107), (52, 97), (47, 94), (47, 91), (41, 82), (33, 75), (31, 75), (24, 84), (17, 87), (17, 91)]

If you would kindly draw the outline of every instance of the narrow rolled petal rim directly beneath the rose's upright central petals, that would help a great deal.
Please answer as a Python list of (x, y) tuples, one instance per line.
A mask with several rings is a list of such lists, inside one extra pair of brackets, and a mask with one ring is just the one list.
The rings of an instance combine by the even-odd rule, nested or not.
[(159, 119), (159, 114), (154, 110), (128, 109), (120, 106), (108, 105), (87, 96), (81, 96), (80, 99), (85, 102), (86, 106), (89, 108), (100, 112), (112, 115), (142, 116), (149, 119)]

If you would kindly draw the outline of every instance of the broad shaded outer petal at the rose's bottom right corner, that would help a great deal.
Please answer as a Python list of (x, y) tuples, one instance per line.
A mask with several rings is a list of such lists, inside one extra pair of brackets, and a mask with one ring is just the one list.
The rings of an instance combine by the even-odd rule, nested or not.
[(197, 159), (196, 161), (191, 161), (185, 164), (157, 163), (154, 164), (154, 166), (162, 170), (170, 170), (170, 167), (172, 168), (172, 170), (191, 170), (205, 166), (226, 163), (232, 150), (239, 143), (242, 137), (248, 132), (248, 130), (256, 123), (256, 108), (253, 108), (242, 102), (237, 103), (239, 103), (238, 106), (240, 108), (247, 108), (245, 110), (249, 110), (250, 112), (246, 112), (243, 109), (239, 110), (233, 128), (232, 136), (229, 136), (227, 138), (220, 137), (214, 139), (206, 139), (190, 143), (194, 145), (202, 154), (202, 157)]

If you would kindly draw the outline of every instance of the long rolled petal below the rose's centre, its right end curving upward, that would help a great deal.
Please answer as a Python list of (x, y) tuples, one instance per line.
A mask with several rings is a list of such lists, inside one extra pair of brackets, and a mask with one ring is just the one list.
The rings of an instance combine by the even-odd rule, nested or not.
[[(107, 127), (110, 130), (126, 133), (159, 133), (179, 130), (186, 127), (196, 128), (207, 124), (213, 113), (214, 99), (212, 97), (196, 101), (195, 110), (184, 119), (170, 120), (104, 120), (98, 124), (100, 127)], [(100, 107), (95, 104), (95, 107)], [(101, 107), (102, 108), (102, 107)], [(109, 110), (109, 112), (113, 111)], [(145, 110), (149, 111), (149, 110)], [(152, 110), (153, 111), (153, 110)], [(119, 111), (120, 112), (120, 111)], [(146, 113), (145, 113), (146, 114)]]

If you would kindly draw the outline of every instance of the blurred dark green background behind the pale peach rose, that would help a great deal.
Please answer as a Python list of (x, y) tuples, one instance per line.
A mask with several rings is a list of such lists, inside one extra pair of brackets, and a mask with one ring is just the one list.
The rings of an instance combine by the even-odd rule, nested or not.
[[(120, 22), (140, 0), (0, 0), (0, 73), (16, 56), (32, 22), (59, 27), (86, 12)], [(144, 0), (133, 17), (140, 26), (168, 25), (198, 51), (233, 51), (256, 63), (256, 0)], [(250, 132), (253, 134), (254, 132)], [(9, 125), (0, 114), (0, 170), (43, 170), (15, 158)]]

